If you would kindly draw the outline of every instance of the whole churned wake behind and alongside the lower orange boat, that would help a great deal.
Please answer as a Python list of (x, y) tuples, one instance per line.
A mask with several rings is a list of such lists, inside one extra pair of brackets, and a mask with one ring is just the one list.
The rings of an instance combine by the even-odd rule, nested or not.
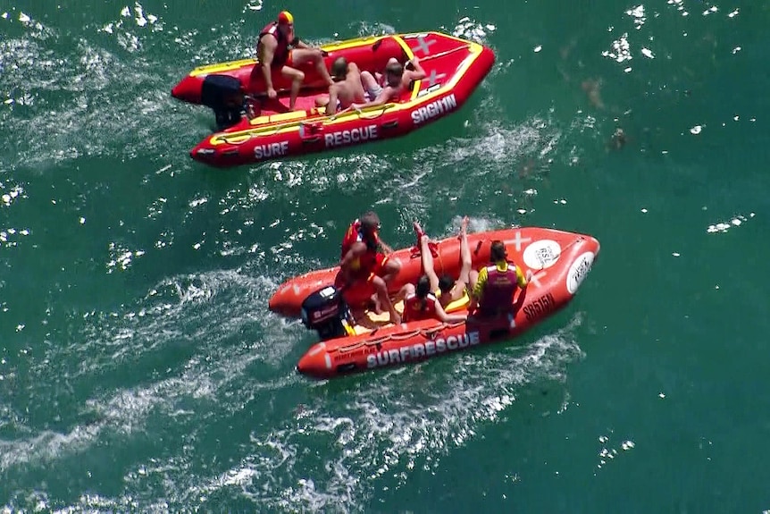
[[(96, 323), (80, 350), (50, 354), (33, 375), (53, 366), (59, 369), (47, 373), (62, 376), (54, 387), (82, 388), (85, 378), (99, 386), (61, 428), (23, 426), (11, 442), (0, 442), (7, 506), (153, 511), (206, 509), (230, 498), (259, 511), (365, 510), (380, 487), (398, 488), (415, 470), (437, 469), (453, 449), (500, 422), (521, 392), (563, 381), (565, 367), (581, 356), (573, 340), (581, 318), (574, 316), (564, 329), (523, 348), (509, 343), (378, 375), (308, 383), (291, 367), (304, 329), (248, 307), (266, 301), (265, 293), (249, 304), (243, 294), (264, 289), (262, 281), (209, 274), (161, 284), (153, 296), (163, 299), (146, 300), (133, 316)], [(214, 299), (217, 308), (211, 308)], [(139, 317), (144, 321), (135, 323)], [(260, 335), (249, 335), (251, 324), (262, 327)], [(174, 354), (176, 365), (167, 367)], [(82, 367), (72, 371), (79, 359)], [(153, 360), (164, 368), (148, 369)], [(132, 452), (129, 468), (98, 467), (108, 454), (126, 451)], [(60, 478), (54, 486), (63, 480), (75, 491), (100, 491), (85, 484), (117, 481), (123, 493), (82, 493), (67, 504), (45, 491), (16, 489), (41, 469), (55, 474), (75, 460), (88, 478)]]

